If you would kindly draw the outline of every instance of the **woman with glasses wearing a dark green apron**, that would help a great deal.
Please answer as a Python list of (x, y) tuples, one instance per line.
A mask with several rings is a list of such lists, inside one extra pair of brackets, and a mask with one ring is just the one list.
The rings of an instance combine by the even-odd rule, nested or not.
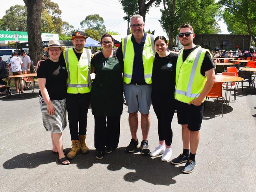
[(97, 159), (103, 158), (104, 151), (111, 153), (117, 148), (123, 108), (123, 64), (112, 50), (114, 39), (111, 35), (104, 34), (100, 43), (103, 51), (91, 60), (91, 72), (95, 73), (91, 108), (95, 120), (94, 144)]

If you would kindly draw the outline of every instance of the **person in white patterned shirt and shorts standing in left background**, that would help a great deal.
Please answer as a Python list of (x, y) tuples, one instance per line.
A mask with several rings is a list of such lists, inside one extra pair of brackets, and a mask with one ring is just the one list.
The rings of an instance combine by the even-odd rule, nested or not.
[[(11, 57), (9, 65), (11, 68), (11, 72), (13, 72), (13, 75), (22, 75), (21, 66), (23, 66), (23, 62), (22, 62), (21, 58), (18, 57), (17, 52), (13, 52), (13, 57)], [(18, 86), (18, 79), (19, 79), (19, 84), (20, 84), (20, 90), (19, 90), (19, 86)], [(20, 91), (23, 93), (24, 90), (23, 90), (22, 79), (14, 78), (14, 80), (15, 80), (16, 92), (19, 93), (19, 91)]]

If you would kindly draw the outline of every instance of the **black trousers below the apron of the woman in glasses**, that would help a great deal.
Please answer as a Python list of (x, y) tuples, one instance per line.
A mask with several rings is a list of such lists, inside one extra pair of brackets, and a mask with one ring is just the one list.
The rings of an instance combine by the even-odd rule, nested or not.
[(121, 115), (94, 116), (94, 146), (97, 151), (104, 151), (105, 146), (117, 148), (120, 135), (120, 117)]

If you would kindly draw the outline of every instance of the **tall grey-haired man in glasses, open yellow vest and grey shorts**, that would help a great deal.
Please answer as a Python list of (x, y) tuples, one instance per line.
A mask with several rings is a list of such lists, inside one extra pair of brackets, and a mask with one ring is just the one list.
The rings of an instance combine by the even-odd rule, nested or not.
[(129, 126), (132, 135), (126, 151), (133, 153), (139, 144), (137, 138), (138, 111), (141, 113), (141, 154), (149, 154), (148, 131), (151, 102), (151, 76), (154, 62), (154, 36), (144, 33), (143, 17), (133, 15), (130, 28), (132, 34), (122, 39), (117, 57), (124, 61), (124, 97), (128, 105)]

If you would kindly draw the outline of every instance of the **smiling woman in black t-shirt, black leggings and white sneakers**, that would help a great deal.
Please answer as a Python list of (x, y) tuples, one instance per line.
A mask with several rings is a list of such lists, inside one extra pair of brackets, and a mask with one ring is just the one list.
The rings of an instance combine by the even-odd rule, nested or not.
[(155, 39), (156, 57), (152, 72), (152, 105), (158, 118), (159, 146), (150, 153), (151, 157), (163, 154), (161, 161), (169, 161), (172, 155), (173, 131), (171, 122), (175, 111), (174, 89), (178, 54), (167, 50), (163, 36)]

